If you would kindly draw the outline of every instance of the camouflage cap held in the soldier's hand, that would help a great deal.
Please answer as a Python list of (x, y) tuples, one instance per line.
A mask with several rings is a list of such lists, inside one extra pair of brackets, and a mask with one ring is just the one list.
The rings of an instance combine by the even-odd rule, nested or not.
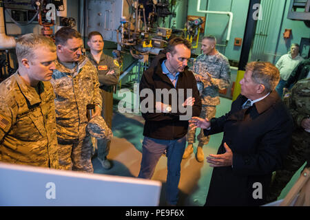
[(92, 118), (87, 124), (87, 131), (96, 139), (111, 140), (113, 133), (102, 116)]

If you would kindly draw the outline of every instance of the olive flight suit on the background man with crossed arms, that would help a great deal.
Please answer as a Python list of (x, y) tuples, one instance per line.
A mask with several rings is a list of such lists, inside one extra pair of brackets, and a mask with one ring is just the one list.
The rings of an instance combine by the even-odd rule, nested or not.
[[(86, 56), (90, 58), (92, 64), (98, 70), (100, 92), (103, 99), (103, 108), (101, 115), (107, 122), (107, 125), (112, 129), (112, 117), (113, 117), (113, 87), (118, 83), (120, 75), (120, 68), (118, 62), (111, 56), (101, 54), (100, 61), (97, 63), (90, 52), (86, 53)], [(114, 70), (114, 74), (107, 75), (107, 72)], [(98, 157), (105, 159), (110, 151), (111, 141), (98, 140)]]

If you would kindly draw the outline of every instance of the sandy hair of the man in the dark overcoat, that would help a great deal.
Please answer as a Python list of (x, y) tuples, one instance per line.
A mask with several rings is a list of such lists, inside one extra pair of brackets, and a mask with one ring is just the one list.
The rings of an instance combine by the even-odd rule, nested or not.
[(280, 80), (279, 69), (269, 62), (254, 61), (248, 63), (245, 70), (252, 72), (251, 78), (255, 83), (265, 86), (265, 91), (270, 92), (276, 88)]

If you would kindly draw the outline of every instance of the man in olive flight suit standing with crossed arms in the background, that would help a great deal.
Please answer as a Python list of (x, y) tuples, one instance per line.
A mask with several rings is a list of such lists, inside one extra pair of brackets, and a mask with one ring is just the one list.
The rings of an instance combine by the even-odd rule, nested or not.
[[(86, 56), (90, 58), (90, 61), (92, 61), (92, 64), (98, 70), (101, 97), (104, 103), (101, 115), (110, 129), (112, 129), (113, 90), (114, 86), (118, 83), (120, 74), (119, 65), (111, 56), (103, 54), (103, 36), (99, 32), (90, 32), (88, 34), (87, 45), (90, 47), (90, 52), (86, 52)], [(111, 163), (107, 159), (111, 141), (98, 140), (97, 144), (98, 158), (103, 168), (111, 168)]]

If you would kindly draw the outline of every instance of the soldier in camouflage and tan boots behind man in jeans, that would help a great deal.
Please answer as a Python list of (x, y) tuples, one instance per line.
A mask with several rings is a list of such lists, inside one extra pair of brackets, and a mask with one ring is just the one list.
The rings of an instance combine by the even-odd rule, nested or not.
[[(200, 54), (194, 61), (191, 68), (194, 72), (197, 82), (203, 83), (203, 91), (200, 95), (203, 104), (200, 118), (214, 118), (216, 115), (216, 105), (220, 104), (219, 89), (226, 89), (230, 83), (230, 69), (228, 59), (216, 50), (216, 38), (214, 36), (205, 36), (201, 46), (203, 54)], [(189, 157), (193, 153), (193, 143), (195, 140), (196, 129), (189, 129), (187, 133), (187, 148), (183, 155), (183, 159)], [(203, 145), (209, 142), (209, 136), (203, 134), (200, 129), (198, 135), (198, 148), (196, 159), (203, 162), (205, 156), (203, 154)]]

